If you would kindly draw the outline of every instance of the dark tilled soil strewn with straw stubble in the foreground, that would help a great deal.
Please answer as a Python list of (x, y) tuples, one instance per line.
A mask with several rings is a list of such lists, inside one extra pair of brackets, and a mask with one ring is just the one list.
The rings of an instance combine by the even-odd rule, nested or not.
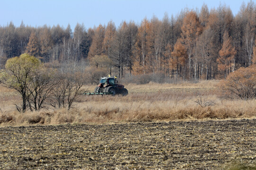
[(236, 163), (256, 167), (256, 119), (0, 128), (0, 169), (219, 170)]

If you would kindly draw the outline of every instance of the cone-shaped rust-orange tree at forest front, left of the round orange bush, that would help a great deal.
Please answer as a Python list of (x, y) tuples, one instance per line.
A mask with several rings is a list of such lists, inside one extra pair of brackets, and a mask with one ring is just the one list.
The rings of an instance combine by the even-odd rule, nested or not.
[(233, 47), (231, 43), (232, 42), (231, 38), (229, 37), (229, 33), (228, 31), (225, 31), (223, 35), (222, 48), (219, 51), (219, 57), (217, 59), (219, 69), (224, 72), (225, 79), (227, 76), (227, 72), (229, 74), (229, 72), (232, 71), (232, 62), (237, 53), (235, 47)]

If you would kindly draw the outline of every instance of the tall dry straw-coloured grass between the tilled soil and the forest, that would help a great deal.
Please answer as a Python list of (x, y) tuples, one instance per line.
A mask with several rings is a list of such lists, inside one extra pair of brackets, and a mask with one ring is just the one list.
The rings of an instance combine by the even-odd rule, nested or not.
[[(255, 118), (256, 100), (221, 98), (218, 81), (183, 84), (126, 85), (127, 96), (79, 95), (71, 110), (40, 110), (19, 113), (13, 102), (17, 96), (0, 98), (0, 125), (145, 122), (195, 119)], [(95, 86), (84, 86), (93, 91)], [(1, 93), (1, 91), (0, 91)], [(9, 91), (13, 93), (13, 91)], [(9, 96), (9, 95), (7, 95)], [(11, 97), (12, 96), (12, 97)], [(198, 104), (201, 99), (201, 104)], [(210, 104), (209, 104), (210, 103)]]

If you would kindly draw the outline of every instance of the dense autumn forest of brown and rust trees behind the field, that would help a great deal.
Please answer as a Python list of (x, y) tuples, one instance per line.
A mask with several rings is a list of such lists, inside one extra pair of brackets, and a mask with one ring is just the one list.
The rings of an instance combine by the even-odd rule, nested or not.
[(28, 53), (52, 66), (83, 63), (105, 75), (161, 74), (172, 79), (221, 79), (256, 62), (256, 4), (242, 3), (233, 15), (225, 4), (183, 9), (140, 23), (106, 25), (0, 26), (0, 69), (7, 59)]

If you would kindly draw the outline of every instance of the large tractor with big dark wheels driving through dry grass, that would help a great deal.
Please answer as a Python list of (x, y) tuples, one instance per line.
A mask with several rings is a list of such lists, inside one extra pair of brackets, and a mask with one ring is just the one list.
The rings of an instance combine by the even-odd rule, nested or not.
[(101, 77), (99, 85), (95, 88), (94, 93), (107, 93), (107, 94), (121, 94), (123, 96), (128, 94), (128, 90), (124, 85), (119, 85), (115, 77)]

